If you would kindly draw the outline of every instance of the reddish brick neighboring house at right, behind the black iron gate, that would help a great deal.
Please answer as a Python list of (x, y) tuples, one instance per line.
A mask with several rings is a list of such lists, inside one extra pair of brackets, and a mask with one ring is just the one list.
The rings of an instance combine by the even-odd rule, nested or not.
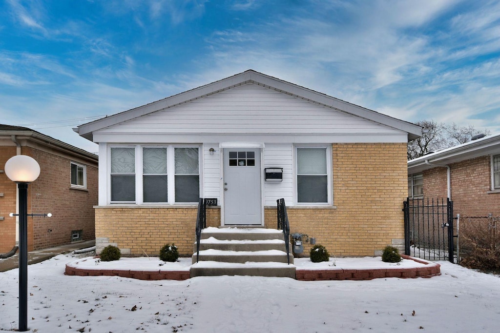
[(450, 198), (454, 215), (500, 215), (500, 134), (427, 154), (407, 165), (410, 198)]

